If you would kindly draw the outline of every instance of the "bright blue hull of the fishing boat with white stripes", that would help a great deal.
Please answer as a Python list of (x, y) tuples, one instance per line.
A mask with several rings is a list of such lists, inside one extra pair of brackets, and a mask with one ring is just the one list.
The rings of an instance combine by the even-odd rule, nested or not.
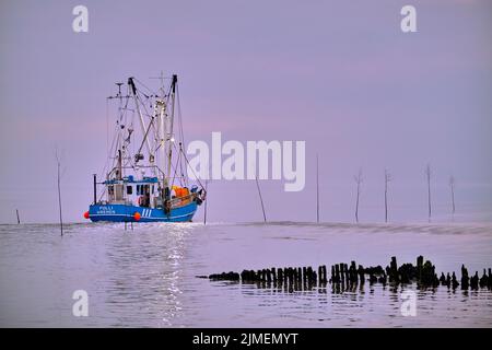
[[(91, 221), (110, 222), (189, 222), (197, 211), (195, 201), (171, 210), (168, 214), (162, 209), (152, 209), (128, 205), (93, 205), (89, 207)], [(134, 213), (140, 213), (136, 220)]]

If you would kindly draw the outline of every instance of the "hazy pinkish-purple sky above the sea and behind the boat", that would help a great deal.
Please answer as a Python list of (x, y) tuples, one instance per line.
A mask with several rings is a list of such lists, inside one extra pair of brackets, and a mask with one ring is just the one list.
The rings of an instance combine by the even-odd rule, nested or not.
[[(305, 140), (297, 194), (262, 182), (271, 220), (353, 221), (352, 176), (364, 170), (361, 221), (380, 221), (384, 168), (394, 220), (425, 220), (432, 164), (436, 214), (447, 179), (458, 210), (492, 208), (492, 4), (411, 1), (418, 33), (400, 31), (408, 1), (74, 1), (0, 4), (0, 223), (55, 222), (54, 149), (63, 150), (67, 221), (82, 221), (91, 174), (105, 163), (105, 97), (114, 82), (179, 77), (187, 140)], [(214, 182), (212, 221), (259, 221), (251, 182)], [(233, 195), (233, 196), (232, 196)], [(197, 217), (201, 220), (201, 213)]]

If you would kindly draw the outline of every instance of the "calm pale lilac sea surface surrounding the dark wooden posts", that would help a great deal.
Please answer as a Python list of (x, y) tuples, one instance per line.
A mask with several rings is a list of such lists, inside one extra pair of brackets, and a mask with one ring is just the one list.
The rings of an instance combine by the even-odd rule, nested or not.
[[(0, 225), (2, 327), (491, 327), (492, 293), (365, 283), (285, 290), (211, 273), (355, 260), (492, 267), (492, 223)], [(328, 276), (329, 278), (329, 276)], [(80, 291), (86, 315), (80, 315)], [(405, 313), (408, 292), (414, 313)], [(405, 296), (407, 295), (407, 296)], [(78, 308), (80, 310), (80, 308)]]

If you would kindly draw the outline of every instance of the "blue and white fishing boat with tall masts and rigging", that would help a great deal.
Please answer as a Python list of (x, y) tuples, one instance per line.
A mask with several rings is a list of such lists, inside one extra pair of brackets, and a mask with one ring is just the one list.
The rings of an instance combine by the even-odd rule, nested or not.
[(188, 184), (177, 75), (159, 79), (153, 91), (128, 78), (126, 84), (116, 83), (116, 95), (107, 97), (108, 106), (117, 105), (115, 132), (113, 141), (107, 140), (99, 179), (93, 175), (94, 199), (85, 219), (189, 222), (206, 200), (199, 179)]

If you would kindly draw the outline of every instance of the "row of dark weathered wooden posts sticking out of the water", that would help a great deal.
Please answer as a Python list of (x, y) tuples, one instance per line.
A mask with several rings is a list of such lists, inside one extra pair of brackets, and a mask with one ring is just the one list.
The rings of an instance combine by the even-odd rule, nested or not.
[(444, 272), (437, 277), (435, 266), (430, 260), (424, 262), (423, 256), (417, 258), (417, 265), (403, 264), (398, 267), (396, 257), (386, 268), (382, 266), (364, 268), (356, 266), (355, 261), (348, 264), (336, 264), (331, 266), (331, 275), (328, 279), (326, 265), (319, 266), (317, 270), (313, 267), (284, 267), (284, 268), (265, 268), (260, 270), (243, 270), (238, 272), (222, 272), (210, 276), (199, 276), (218, 281), (234, 281), (242, 283), (257, 283), (262, 288), (284, 288), (289, 291), (312, 290), (316, 287), (326, 287), (328, 283), (336, 290), (354, 290), (359, 285), (363, 288), (368, 281), (370, 284), (382, 283), (397, 287), (399, 284), (411, 284), (417, 282), (418, 288), (437, 288), (446, 285), (448, 289), (456, 290), (492, 290), (492, 271), (483, 269), (482, 277), (478, 271), (470, 278), (465, 265), (461, 266), (461, 278), (458, 281), (456, 273)]

